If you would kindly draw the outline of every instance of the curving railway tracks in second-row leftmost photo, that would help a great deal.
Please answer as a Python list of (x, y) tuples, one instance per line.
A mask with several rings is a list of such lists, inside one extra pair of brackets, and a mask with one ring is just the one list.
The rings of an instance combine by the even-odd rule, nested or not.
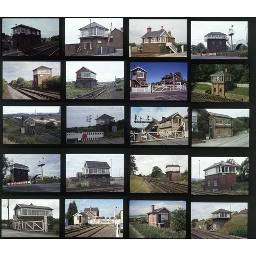
[(10, 86), (14, 90), (30, 97), (31, 99), (39, 99), (39, 100), (56, 100), (60, 99), (60, 92), (49, 91), (44, 89), (35, 89), (35, 88), (26, 88), (26, 87), (17, 87)]

